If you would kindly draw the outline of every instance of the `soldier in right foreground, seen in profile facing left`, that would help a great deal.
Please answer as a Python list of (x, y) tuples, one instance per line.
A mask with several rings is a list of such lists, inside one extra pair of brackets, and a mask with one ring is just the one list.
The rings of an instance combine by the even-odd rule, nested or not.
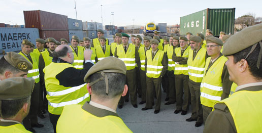
[(236, 92), (214, 106), (204, 132), (261, 132), (262, 24), (244, 28), (224, 43), (223, 55)]

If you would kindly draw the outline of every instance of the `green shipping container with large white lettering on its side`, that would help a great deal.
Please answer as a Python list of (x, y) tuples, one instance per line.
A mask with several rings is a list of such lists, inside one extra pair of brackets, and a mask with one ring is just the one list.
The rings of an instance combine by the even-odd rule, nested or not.
[(191, 32), (206, 34), (206, 30), (213, 31), (214, 36), (219, 36), (220, 31), (234, 34), (235, 8), (231, 9), (205, 9), (187, 16), (180, 17), (180, 34)]

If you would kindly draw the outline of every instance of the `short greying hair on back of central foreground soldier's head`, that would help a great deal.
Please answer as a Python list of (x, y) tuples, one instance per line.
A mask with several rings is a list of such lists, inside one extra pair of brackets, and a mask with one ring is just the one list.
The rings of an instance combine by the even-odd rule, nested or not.
[[(115, 98), (123, 93), (125, 84), (125, 75), (122, 73), (105, 73), (108, 76), (108, 95), (106, 94), (106, 82), (105, 78), (93, 84), (92, 94), (95, 94), (101, 99)], [(90, 76), (90, 82), (101, 78), (101, 73), (94, 73)]]

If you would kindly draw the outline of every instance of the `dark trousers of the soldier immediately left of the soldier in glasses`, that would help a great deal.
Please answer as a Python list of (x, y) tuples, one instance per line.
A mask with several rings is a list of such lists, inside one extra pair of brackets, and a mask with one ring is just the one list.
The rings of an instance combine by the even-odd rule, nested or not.
[(196, 119), (197, 122), (203, 123), (203, 110), (202, 110), (202, 104), (200, 102), (201, 82), (194, 82), (189, 79), (188, 85), (191, 94), (191, 108), (192, 108), (191, 118)]

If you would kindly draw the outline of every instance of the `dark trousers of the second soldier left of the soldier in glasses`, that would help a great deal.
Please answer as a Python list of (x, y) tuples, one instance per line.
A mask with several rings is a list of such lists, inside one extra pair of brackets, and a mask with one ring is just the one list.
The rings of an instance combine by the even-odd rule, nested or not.
[[(189, 108), (189, 88), (188, 88), (188, 75), (179, 74), (175, 75), (175, 86), (176, 86), (176, 99), (177, 108), (176, 110), (187, 111)], [(184, 91), (184, 99), (183, 99)]]

